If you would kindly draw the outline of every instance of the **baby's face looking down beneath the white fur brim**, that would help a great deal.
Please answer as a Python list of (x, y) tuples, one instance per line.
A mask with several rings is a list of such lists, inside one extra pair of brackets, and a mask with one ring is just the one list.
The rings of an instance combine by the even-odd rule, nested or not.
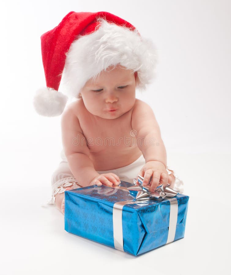
[[(88, 112), (104, 119), (122, 116), (135, 104), (136, 78), (132, 70), (121, 66), (101, 71), (99, 77), (89, 79), (81, 90)], [(116, 109), (116, 111), (110, 111)]]

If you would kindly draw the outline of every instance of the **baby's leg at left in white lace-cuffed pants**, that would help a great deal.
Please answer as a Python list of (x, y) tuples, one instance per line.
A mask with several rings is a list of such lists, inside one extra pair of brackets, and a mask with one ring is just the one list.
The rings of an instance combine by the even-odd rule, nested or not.
[[(52, 199), (50, 204), (55, 206), (62, 212), (64, 209), (64, 192), (65, 190), (76, 189), (82, 187), (70, 171), (69, 164), (61, 161), (58, 168), (51, 177)], [(68, 188), (68, 189), (67, 189)]]

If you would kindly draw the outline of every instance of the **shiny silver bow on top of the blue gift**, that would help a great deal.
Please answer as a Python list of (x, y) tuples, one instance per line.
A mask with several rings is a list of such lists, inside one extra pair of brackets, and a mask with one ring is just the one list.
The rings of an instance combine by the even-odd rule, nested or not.
[(150, 182), (152, 180), (152, 176), (148, 181), (148, 184), (146, 186), (143, 186), (143, 177), (138, 175), (138, 184), (136, 184), (136, 178), (133, 179), (133, 183), (135, 185), (128, 187), (127, 189), (130, 191), (138, 191), (136, 195), (136, 200), (147, 200), (148, 198), (153, 198), (155, 200), (163, 200), (165, 198), (172, 198), (179, 194), (179, 192), (174, 191), (172, 188), (170, 188), (170, 184), (168, 184), (165, 188), (163, 188), (163, 185), (157, 186), (154, 192), (151, 192), (151, 185)]

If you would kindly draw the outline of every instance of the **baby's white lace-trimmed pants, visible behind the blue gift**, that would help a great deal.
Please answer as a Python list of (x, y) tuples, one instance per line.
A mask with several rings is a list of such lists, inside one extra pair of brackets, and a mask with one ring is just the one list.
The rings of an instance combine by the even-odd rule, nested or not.
[[(61, 194), (65, 192), (65, 188), (72, 187), (72, 188), (80, 188), (81, 183), (78, 182), (76, 178), (74, 178), (73, 174), (70, 171), (69, 164), (67, 162), (66, 156), (61, 151), (61, 159), (58, 168), (54, 171), (52, 177), (51, 177), (51, 186), (52, 186), (52, 198), (47, 202), (49, 205), (54, 205), (55, 203), (55, 195)], [(116, 174), (121, 181), (130, 182), (133, 183), (133, 178), (136, 178), (136, 176), (140, 173), (140, 170), (145, 164), (145, 159), (143, 155), (141, 155), (137, 160), (130, 163), (129, 165), (126, 165), (124, 167), (120, 167), (117, 169), (112, 170), (105, 170), (105, 171), (97, 171), (99, 174), (104, 173), (114, 173)], [(167, 167), (166, 169), (168, 171), (168, 174), (171, 174), (173, 172), (173, 169)], [(174, 189), (180, 191), (180, 193), (183, 192), (183, 182), (178, 178), (177, 174), (173, 172), (173, 175), (176, 177), (175, 183), (174, 183)]]

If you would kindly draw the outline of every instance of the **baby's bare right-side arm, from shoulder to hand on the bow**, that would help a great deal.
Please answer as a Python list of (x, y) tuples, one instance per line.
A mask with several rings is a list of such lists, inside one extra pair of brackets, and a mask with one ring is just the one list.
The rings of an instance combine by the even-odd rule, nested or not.
[(147, 185), (152, 176), (151, 191), (156, 189), (159, 182), (166, 186), (169, 176), (166, 171), (165, 145), (151, 107), (141, 100), (136, 101), (132, 112), (132, 129), (137, 132), (137, 146), (145, 158), (145, 165), (140, 171), (140, 175), (144, 177), (143, 185)]

